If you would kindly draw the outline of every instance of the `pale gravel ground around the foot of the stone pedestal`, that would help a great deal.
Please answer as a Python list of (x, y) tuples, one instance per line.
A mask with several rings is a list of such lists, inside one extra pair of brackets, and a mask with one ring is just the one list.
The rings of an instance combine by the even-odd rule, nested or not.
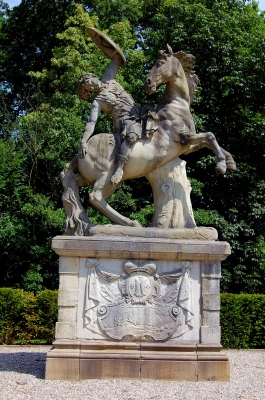
[(265, 400), (265, 350), (230, 350), (231, 382), (45, 381), (49, 346), (0, 346), (0, 399)]

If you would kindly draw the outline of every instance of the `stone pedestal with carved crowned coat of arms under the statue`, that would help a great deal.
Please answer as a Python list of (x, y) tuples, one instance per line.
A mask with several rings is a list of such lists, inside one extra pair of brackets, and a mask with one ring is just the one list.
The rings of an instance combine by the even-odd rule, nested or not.
[(229, 380), (219, 282), (230, 246), (216, 232), (170, 232), (54, 238), (59, 315), (46, 379)]

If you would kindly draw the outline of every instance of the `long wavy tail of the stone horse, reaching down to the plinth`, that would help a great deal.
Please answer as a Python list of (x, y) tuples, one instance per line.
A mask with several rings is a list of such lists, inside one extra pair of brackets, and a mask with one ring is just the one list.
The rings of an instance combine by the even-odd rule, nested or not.
[(67, 163), (60, 174), (64, 187), (63, 208), (67, 217), (65, 235), (68, 236), (84, 236), (87, 230), (93, 226), (80, 202), (79, 187), (86, 186), (87, 182), (80, 174), (74, 172), (77, 168), (77, 158), (76, 156)]

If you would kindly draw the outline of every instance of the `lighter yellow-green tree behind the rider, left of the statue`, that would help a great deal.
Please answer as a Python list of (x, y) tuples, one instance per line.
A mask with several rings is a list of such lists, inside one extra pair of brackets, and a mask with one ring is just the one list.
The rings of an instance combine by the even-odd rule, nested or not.
[[(50, 242), (54, 235), (63, 232), (65, 220), (59, 176), (65, 163), (76, 154), (90, 113), (90, 105), (76, 94), (77, 82), (90, 70), (100, 76), (109, 63), (86, 33), (87, 26), (95, 23), (97, 18), (90, 18), (82, 6), (76, 6), (75, 14), (65, 22), (65, 30), (57, 34), (60, 45), (53, 49), (50, 68), (28, 72), (31, 93), (23, 100), (27, 111), (12, 125), (12, 137), (1, 142), (3, 169), (0, 174), (4, 187), (0, 198), (10, 199), (1, 204), (2, 244), (6, 249), (1, 271), (4, 284), (22, 285), (35, 291), (56, 285), (57, 257), (51, 251)], [(134, 46), (128, 23), (118, 23), (110, 29), (112, 37), (123, 47)], [(135, 65), (139, 64), (137, 55), (131, 51), (133, 57)], [(122, 81), (122, 74), (119, 75)], [(111, 132), (112, 124), (102, 120), (97, 130)], [(14, 160), (19, 165), (19, 173), (16, 181), (10, 181)], [(88, 195), (84, 193), (84, 197)], [(135, 202), (129, 199), (130, 195), (125, 198), (121, 191), (113, 201), (118, 201), (123, 208), (131, 202), (135, 211)], [(16, 243), (18, 236), (23, 240)], [(9, 257), (12, 248), (15, 251)]]

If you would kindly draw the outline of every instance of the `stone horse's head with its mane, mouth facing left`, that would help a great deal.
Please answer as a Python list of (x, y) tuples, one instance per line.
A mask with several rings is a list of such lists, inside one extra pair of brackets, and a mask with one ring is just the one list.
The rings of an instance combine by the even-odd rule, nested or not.
[(167, 51), (160, 50), (158, 59), (145, 81), (145, 90), (152, 94), (163, 83), (176, 83), (176, 90), (180, 90), (183, 96), (189, 99), (191, 103), (196, 86), (199, 84), (197, 75), (192, 71), (195, 57), (192, 54), (186, 54), (184, 51), (173, 53), (172, 48), (167, 45)]

